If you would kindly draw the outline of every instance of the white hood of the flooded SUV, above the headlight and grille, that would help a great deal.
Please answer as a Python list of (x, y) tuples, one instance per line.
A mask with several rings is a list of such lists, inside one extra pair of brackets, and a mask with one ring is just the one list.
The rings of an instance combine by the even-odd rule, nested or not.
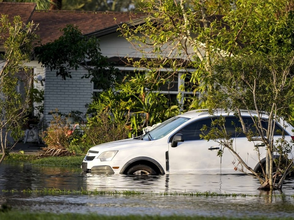
[(105, 150), (105, 149), (120, 150), (125, 147), (128, 147), (128, 148), (139, 147), (139, 146), (144, 146), (147, 144), (151, 144), (150, 141), (130, 138), (130, 139), (117, 140), (117, 141), (112, 141), (112, 142), (108, 142), (108, 143), (104, 143), (104, 144), (99, 144), (94, 147), (91, 147), (89, 150), (91, 150), (91, 151), (101, 151), (101, 150)]

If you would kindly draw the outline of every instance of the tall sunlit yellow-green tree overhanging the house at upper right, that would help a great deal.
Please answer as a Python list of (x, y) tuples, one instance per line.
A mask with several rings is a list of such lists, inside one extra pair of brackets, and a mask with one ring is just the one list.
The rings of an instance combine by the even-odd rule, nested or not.
[[(132, 64), (157, 73), (168, 66), (170, 75), (179, 69), (194, 69), (190, 78), (194, 92), (208, 91), (207, 76), (217, 59), (252, 53), (286, 54), (292, 50), (291, 1), (141, 2), (141, 10), (149, 14), (145, 23), (121, 29), (143, 56)], [(153, 59), (146, 59), (150, 57)], [(197, 108), (198, 104), (196, 100), (191, 107)]]

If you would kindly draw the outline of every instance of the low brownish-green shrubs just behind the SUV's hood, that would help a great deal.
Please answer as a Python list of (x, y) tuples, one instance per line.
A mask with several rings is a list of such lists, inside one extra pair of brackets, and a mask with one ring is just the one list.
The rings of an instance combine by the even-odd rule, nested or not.
[(86, 153), (97, 144), (128, 138), (126, 122), (117, 122), (108, 110), (102, 110), (87, 117), (85, 124), (73, 129), (60, 114), (52, 114), (53, 119), (42, 132), (44, 143), (48, 147), (62, 146), (77, 154)]

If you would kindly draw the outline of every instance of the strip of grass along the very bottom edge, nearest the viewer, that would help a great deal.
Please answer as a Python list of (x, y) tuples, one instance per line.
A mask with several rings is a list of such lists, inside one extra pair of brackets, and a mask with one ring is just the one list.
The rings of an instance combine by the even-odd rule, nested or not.
[(230, 217), (204, 217), (204, 216), (179, 216), (179, 215), (170, 215), (170, 216), (158, 216), (158, 215), (119, 215), (119, 216), (108, 216), (108, 215), (100, 215), (100, 214), (55, 214), (55, 213), (29, 213), (29, 212), (0, 212), (1, 220), (71, 220), (71, 219), (79, 219), (79, 220), (292, 220), (294, 218), (267, 218), (267, 217), (243, 217), (243, 218), (230, 218)]

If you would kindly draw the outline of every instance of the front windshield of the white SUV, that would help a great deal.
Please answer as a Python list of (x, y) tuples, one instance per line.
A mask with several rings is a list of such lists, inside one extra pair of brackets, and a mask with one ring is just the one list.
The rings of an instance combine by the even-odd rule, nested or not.
[(169, 132), (177, 128), (179, 125), (188, 121), (190, 118), (187, 117), (173, 117), (167, 121), (162, 122), (149, 132), (146, 132), (141, 136), (141, 140), (157, 140), (166, 136)]

